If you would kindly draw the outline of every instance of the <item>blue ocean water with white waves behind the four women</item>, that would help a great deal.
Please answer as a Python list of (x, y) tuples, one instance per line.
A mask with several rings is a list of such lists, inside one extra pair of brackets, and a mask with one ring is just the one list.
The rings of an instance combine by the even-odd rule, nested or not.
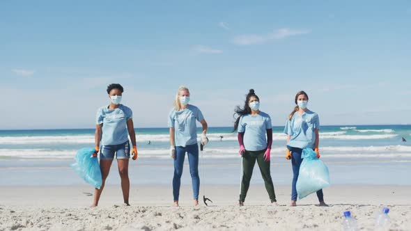
[[(290, 161), (284, 159), (283, 130), (273, 127), (274, 184), (290, 184), (292, 177)], [(169, 129), (136, 129), (136, 134), (139, 159), (130, 161), (132, 184), (171, 184)], [(201, 181), (238, 184), (237, 134), (232, 127), (210, 127), (208, 138), (201, 155)], [(332, 184), (410, 185), (410, 143), (411, 125), (323, 126), (320, 130), (321, 159), (329, 167)], [(94, 129), (0, 130), (0, 186), (84, 184), (69, 166), (77, 150), (85, 147), (94, 147)], [(114, 161), (107, 184), (119, 181)], [(190, 182), (186, 165), (183, 184)], [(251, 182), (263, 183), (258, 166)]]

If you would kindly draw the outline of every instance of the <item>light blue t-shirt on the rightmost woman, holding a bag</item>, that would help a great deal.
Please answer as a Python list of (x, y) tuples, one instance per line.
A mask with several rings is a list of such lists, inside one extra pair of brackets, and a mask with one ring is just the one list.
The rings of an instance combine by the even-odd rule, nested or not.
[(290, 135), (288, 146), (294, 148), (314, 148), (316, 129), (320, 129), (318, 114), (307, 109), (301, 116), (294, 113), (291, 120), (287, 120), (284, 133)]

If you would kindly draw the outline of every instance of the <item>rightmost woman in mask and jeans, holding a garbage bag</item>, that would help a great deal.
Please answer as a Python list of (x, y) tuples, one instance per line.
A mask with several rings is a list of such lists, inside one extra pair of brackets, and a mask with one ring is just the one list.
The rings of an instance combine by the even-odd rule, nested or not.
[[(303, 90), (295, 95), (295, 108), (291, 111), (284, 128), (284, 133), (287, 134), (287, 149), (286, 159), (291, 159), (293, 166), (293, 183), (291, 189), (291, 206), (297, 205), (297, 190), (296, 184), (300, 173), (300, 165), (302, 162), (301, 154), (304, 148), (312, 148), (317, 153), (317, 158), (320, 158), (318, 144), (320, 136), (320, 119), (318, 114), (307, 109), (309, 97)], [(320, 206), (327, 206), (324, 202), (323, 190), (317, 191), (317, 197), (320, 201)]]

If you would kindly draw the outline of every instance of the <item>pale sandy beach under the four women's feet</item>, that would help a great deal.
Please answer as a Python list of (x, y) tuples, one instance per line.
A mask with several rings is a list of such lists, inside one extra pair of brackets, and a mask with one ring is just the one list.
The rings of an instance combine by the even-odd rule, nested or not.
[[(290, 187), (277, 186), (281, 206), (270, 205), (263, 185), (251, 185), (238, 207), (238, 186), (206, 186), (213, 200), (192, 206), (191, 186), (183, 186), (180, 207), (172, 207), (171, 186), (133, 185), (130, 207), (122, 205), (120, 186), (104, 189), (100, 206), (91, 205), (88, 186), (8, 186), (0, 191), (0, 230), (341, 230), (350, 210), (361, 230), (373, 230), (382, 205), (391, 211), (391, 230), (411, 230), (411, 186), (336, 185), (325, 189), (329, 207), (316, 196), (289, 207)], [(203, 196), (203, 191), (200, 193)]]

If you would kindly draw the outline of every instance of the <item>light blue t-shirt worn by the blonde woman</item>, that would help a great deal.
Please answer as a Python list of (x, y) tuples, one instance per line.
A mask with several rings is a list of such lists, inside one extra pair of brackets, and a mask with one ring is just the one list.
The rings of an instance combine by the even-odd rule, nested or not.
[(203, 120), (203, 114), (196, 106), (189, 104), (186, 109), (169, 113), (169, 127), (174, 127), (174, 141), (176, 146), (187, 146), (197, 143), (196, 120)]

